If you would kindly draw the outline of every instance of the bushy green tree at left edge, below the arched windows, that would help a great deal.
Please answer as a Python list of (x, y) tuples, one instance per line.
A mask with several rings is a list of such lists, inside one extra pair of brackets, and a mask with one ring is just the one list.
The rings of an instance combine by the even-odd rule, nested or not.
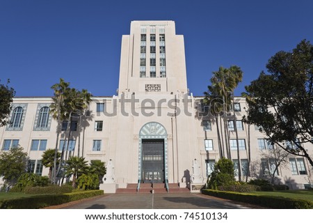
[(24, 148), (17, 146), (10, 151), (0, 153), (0, 176), (3, 176), (8, 185), (13, 185), (22, 174), (26, 173), (29, 157)]

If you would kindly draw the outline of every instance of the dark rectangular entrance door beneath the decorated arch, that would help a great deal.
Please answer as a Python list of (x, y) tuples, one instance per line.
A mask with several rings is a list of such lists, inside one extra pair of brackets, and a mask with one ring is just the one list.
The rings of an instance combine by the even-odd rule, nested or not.
[(164, 183), (164, 139), (142, 139), (143, 183)]

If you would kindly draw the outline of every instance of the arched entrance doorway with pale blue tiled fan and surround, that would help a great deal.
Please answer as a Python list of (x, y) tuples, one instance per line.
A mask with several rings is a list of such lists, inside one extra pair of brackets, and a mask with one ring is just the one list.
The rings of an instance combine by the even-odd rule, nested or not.
[(147, 123), (141, 128), (139, 132), (138, 182), (167, 182), (167, 137), (166, 129), (160, 123)]

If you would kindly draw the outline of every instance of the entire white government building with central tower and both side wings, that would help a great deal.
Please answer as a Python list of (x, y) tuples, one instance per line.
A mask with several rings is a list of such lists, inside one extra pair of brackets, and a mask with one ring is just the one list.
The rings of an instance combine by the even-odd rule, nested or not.
[[(175, 22), (133, 21), (130, 35), (122, 36), (118, 95), (93, 97), (89, 117), (78, 118), (71, 127), (71, 155), (108, 164), (100, 186), (106, 192), (119, 192), (131, 185), (141, 190), (151, 183), (162, 183), (168, 190), (173, 185), (203, 185), (221, 155), (214, 118), (201, 104), (202, 99), (188, 91), (184, 36), (175, 33)], [(49, 170), (42, 167), (42, 153), (56, 145), (56, 121), (49, 114), (51, 102), (51, 98), (14, 98), (10, 124), (0, 128), (0, 148), (8, 151), (19, 144), (30, 157), (31, 171), (45, 176)], [(245, 98), (236, 97), (243, 179), (249, 157), (248, 126), (241, 121), (245, 107)], [(232, 116), (227, 122), (229, 158), (236, 169)], [(220, 128), (224, 132), (223, 126)], [(65, 137), (62, 133), (60, 148)], [(273, 160), (262, 157), (262, 151), (269, 147), (264, 134), (252, 126), (249, 179), (273, 171)], [(312, 144), (305, 148), (312, 155)], [(313, 184), (312, 171), (303, 157), (290, 155), (289, 164), (278, 169), (276, 182), (291, 189), (305, 188)]]

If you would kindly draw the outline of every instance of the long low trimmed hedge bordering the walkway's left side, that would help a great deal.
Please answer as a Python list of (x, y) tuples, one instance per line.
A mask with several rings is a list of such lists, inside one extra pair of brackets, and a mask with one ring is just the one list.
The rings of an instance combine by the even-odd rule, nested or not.
[(0, 201), (1, 209), (35, 209), (58, 205), (70, 201), (77, 201), (89, 197), (104, 194), (103, 190), (86, 190), (83, 192), (71, 192), (67, 194), (47, 194), (34, 197), (7, 199)]

